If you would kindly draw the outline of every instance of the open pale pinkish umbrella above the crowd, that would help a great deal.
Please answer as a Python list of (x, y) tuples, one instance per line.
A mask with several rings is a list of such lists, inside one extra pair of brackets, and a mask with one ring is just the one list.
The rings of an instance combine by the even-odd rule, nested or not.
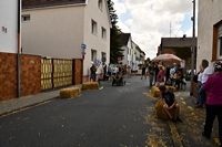
[(180, 57), (178, 57), (176, 55), (173, 54), (160, 54), (158, 56), (155, 56), (153, 60), (153, 62), (180, 62), (182, 61)]

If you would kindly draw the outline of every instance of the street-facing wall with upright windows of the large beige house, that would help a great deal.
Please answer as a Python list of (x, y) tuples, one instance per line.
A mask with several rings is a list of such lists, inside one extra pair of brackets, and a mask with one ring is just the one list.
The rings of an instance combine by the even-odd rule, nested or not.
[[(98, 7), (98, 0), (89, 0), (84, 11), (84, 36), (83, 43), (87, 44), (87, 54), (84, 57), (83, 75), (89, 75), (89, 69), (91, 66), (91, 50), (97, 51), (97, 60), (102, 59), (102, 52), (107, 54), (105, 64), (110, 63), (110, 21), (109, 13), (105, 8), (105, 0), (102, 2), (102, 9)], [(97, 34), (91, 33), (91, 21), (97, 22)], [(101, 28), (107, 31), (105, 39), (102, 39)], [(98, 69), (98, 73), (102, 73), (102, 65)]]

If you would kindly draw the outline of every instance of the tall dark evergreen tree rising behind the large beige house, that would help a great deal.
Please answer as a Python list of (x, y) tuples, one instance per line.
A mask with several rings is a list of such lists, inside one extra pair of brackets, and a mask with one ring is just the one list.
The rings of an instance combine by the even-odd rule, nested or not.
[(110, 20), (112, 28), (110, 29), (110, 63), (117, 64), (118, 63), (118, 57), (123, 59), (123, 51), (122, 43), (120, 42), (120, 29), (117, 25), (118, 23), (118, 15), (115, 14), (115, 10), (113, 8), (114, 3), (112, 0), (108, 0), (108, 8), (110, 10)]

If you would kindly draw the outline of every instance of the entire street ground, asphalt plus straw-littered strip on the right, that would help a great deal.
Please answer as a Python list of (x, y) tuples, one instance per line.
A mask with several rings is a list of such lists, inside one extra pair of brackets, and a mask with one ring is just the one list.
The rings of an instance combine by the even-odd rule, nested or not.
[(157, 98), (149, 96), (149, 78), (124, 80), (124, 86), (105, 82), (102, 90), (83, 91), (80, 97), (57, 98), (1, 116), (0, 147), (216, 146), (201, 136), (204, 109), (184, 102), (188, 92), (175, 93), (183, 123), (173, 124), (154, 118)]

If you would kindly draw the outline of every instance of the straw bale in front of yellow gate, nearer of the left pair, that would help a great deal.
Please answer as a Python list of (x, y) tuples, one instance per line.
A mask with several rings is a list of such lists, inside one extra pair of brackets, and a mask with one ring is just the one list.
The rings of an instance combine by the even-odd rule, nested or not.
[(60, 98), (73, 98), (80, 95), (79, 87), (62, 88), (59, 92)]

